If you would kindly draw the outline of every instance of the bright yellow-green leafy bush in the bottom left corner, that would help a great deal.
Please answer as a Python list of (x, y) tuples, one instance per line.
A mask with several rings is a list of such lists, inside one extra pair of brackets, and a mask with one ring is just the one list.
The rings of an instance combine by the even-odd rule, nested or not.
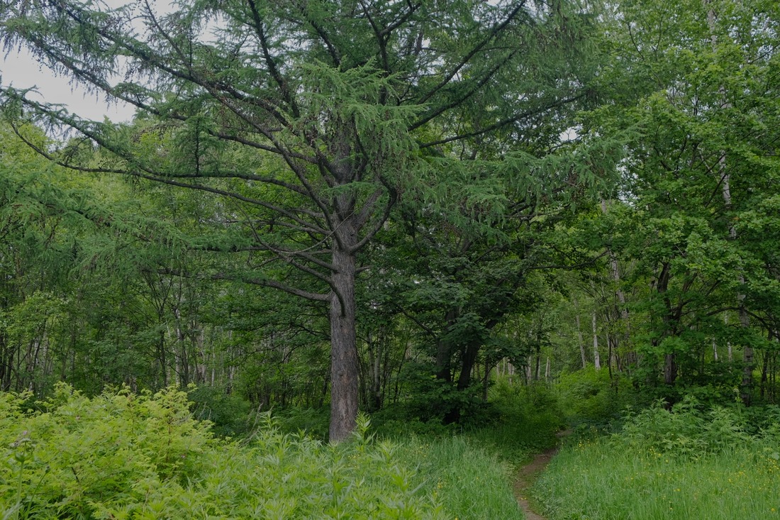
[(197, 478), (215, 447), (176, 389), (90, 400), (59, 383), (44, 411), (21, 408), (29, 397), (0, 397), (0, 510), (16, 511), (12, 518), (97, 518), (143, 504), (162, 483)]

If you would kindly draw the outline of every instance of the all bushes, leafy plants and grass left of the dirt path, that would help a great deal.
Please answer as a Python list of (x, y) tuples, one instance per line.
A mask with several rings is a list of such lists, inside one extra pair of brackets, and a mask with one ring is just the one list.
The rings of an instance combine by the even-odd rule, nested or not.
[[(457, 435), (417, 424), (374, 436), (361, 418), (353, 439), (334, 446), (289, 431), (284, 414), (222, 418), (219, 432), (250, 431), (236, 440), (197, 420), (224, 411), (201, 401), (175, 388), (88, 398), (64, 384), (46, 401), (0, 394), (0, 518), (521, 520), (514, 462), (554, 429), (495, 415), (490, 428)], [(305, 415), (293, 417), (299, 426)]]

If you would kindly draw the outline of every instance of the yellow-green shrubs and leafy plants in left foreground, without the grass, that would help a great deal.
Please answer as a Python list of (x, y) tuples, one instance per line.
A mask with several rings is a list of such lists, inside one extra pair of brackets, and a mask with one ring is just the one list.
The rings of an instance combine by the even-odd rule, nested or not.
[(186, 393), (129, 390), (88, 399), (66, 385), (27, 409), (0, 394), (0, 518), (450, 518), (361, 422), (327, 445), (279, 431), (220, 440)]

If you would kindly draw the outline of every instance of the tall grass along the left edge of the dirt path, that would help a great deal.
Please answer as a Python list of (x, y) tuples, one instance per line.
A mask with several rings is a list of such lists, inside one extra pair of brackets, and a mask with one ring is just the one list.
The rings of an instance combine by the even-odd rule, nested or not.
[(394, 419), (380, 432), (399, 444), (399, 459), (417, 469), (421, 485), (434, 490), (453, 518), (520, 520), (523, 513), (512, 492), (517, 470), (555, 445), (562, 426), (550, 386), (499, 381), (478, 421), (442, 427)]

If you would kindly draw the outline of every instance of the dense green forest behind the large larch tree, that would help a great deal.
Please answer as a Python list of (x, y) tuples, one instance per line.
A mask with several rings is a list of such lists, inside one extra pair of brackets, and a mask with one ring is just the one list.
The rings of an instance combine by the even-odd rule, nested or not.
[[(484, 91), (480, 106), (501, 112), (509, 98), (527, 102), (525, 92), (544, 98), (526, 107), (534, 116), (484, 133), (475, 129), (491, 122), (464, 97), (409, 142), (392, 132), (419, 107), (376, 127), (390, 144), (365, 151), (385, 161), (372, 167), (406, 167), (410, 179), (387, 174), (377, 186), (397, 183), (375, 194), (365, 186), (374, 181), (354, 181), (355, 204), (373, 208), (375, 196), (387, 208), (371, 240), (350, 250), (361, 409), (461, 422), (484, 413), (497, 378), (606, 377), (670, 404), (684, 394), (778, 399), (778, 6), (599, 9), (555, 2), (544, 20), (532, 9), (527, 27), (544, 43), (524, 49), (534, 61), (490, 76), (518, 90)], [(336, 90), (349, 80), (328, 78)], [(399, 87), (371, 74), (360, 81), (354, 87), (371, 93), (354, 96), (365, 105)], [(425, 103), (438, 102), (434, 91)], [(194, 383), (206, 416), (245, 402), (331, 401), (334, 304), (316, 296), (339, 282), (313, 249), (330, 239), (315, 236), (320, 217), (295, 199), (297, 188), (279, 187), (294, 180), (278, 173), (281, 160), (215, 137), (226, 131), (218, 123), (239, 123), (219, 119), (201, 94), (161, 96), (155, 106), (168, 112), (94, 130), (5, 89), (2, 390), (42, 397), (61, 381), (89, 395)], [(360, 106), (363, 124), (379, 120)], [(58, 113), (81, 133), (47, 137)], [(147, 173), (128, 175), (134, 167)], [(323, 190), (337, 201), (347, 193)]]

